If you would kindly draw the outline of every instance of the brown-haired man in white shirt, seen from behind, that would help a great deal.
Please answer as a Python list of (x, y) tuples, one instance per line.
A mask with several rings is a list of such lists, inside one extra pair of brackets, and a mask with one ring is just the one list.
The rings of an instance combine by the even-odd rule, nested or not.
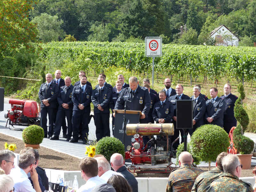
[(98, 163), (96, 159), (85, 157), (81, 160), (79, 166), (82, 178), (86, 183), (79, 188), (78, 192), (91, 192), (94, 187), (107, 183), (98, 176)]

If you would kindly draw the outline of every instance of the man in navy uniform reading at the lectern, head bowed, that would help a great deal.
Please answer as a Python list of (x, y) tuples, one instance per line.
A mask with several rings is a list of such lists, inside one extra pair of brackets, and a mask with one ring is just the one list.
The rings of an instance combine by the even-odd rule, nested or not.
[[(130, 87), (124, 88), (119, 98), (116, 100), (115, 109), (124, 109), (126, 101), (126, 110), (141, 111), (140, 123), (147, 123), (146, 117), (150, 109), (150, 95), (148, 89), (139, 86), (137, 77), (129, 78)], [(115, 113), (113, 114), (115, 116)]]

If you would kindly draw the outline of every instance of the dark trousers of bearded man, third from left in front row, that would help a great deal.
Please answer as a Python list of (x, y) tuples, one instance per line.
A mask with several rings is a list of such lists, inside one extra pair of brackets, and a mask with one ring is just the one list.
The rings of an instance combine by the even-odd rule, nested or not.
[(72, 130), (73, 130), (73, 139), (78, 140), (78, 132), (80, 124), (82, 126), (82, 138), (83, 140), (87, 140), (87, 136), (89, 133), (88, 120), (90, 117), (90, 111), (73, 111), (72, 115)]

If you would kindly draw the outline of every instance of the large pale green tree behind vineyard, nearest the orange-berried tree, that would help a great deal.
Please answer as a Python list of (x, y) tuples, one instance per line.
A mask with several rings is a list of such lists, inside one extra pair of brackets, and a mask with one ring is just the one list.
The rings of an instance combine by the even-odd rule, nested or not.
[(37, 24), (38, 37), (43, 42), (58, 41), (59, 38), (63, 38), (66, 34), (61, 25), (62, 20), (58, 20), (58, 16), (48, 15), (47, 13), (41, 13), (40, 16), (36, 16), (31, 22)]

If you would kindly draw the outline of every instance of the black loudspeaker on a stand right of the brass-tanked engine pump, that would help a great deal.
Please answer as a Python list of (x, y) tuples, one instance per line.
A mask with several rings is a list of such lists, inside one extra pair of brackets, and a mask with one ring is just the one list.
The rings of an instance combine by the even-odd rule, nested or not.
[(193, 128), (193, 100), (176, 100), (176, 129)]

